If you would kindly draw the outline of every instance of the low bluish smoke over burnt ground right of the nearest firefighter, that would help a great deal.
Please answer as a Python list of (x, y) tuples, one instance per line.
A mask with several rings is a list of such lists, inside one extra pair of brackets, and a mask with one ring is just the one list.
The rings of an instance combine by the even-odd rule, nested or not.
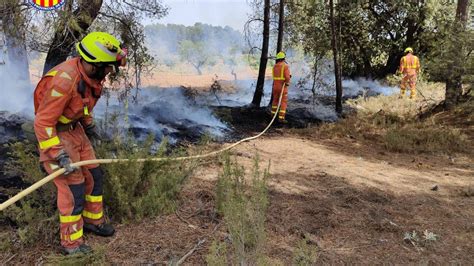
[(105, 120), (106, 115), (116, 115), (122, 130), (130, 130), (139, 140), (153, 134), (156, 141), (167, 137), (172, 144), (179, 139), (195, 141), (203, 134), (222, 139), (229, 131), (210, 109), (186, 98), (181, 88), (142, 89), (136, 99), (129, 97), (128, 102), (127, 113), (117, 95), (111, 96), (109, 106), (102, 99), (94, 110), (95, 117)]

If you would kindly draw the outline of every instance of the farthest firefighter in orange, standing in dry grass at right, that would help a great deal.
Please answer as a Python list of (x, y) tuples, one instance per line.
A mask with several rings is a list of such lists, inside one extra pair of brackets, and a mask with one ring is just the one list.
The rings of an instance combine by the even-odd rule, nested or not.
[(403, 74), (400, 84), (400, 98), (405, 97), (407, 85), (410, 86), (410, 99), (416, 98), (416, 76), (420, 72), (420, 59), (413, 55), (413, 49), (405, 49), (405, 56), (400, 60), (399, 72)]

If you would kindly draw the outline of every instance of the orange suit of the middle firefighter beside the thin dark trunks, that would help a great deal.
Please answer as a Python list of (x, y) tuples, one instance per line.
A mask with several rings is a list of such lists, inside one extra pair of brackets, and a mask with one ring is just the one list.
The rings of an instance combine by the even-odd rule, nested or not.
[(278, 119), (285, 120), (286, 115), (286, 107), (288, 104), (288, 86), (290, 86), (290, 68), (288, 64), (282, 60), (277, 62), (273, 67), (272, 71), (273, 76), (273, 102), (272, 102), (272, 115), (277, 112), (278, 108), (278, 100), (280, 99), (281, 89), (283, 84), (285, 84), (285, 88), (283, 91), (282, 99), (281, 99), (281, 106), (278, 112)]

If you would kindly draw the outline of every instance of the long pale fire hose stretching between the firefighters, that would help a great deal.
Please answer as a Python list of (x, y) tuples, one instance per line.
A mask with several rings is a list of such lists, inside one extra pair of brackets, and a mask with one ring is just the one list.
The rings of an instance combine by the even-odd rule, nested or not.
[[(278, 107), (277, 107), (277, 111), (280, 109), (280, 105), (281, 105), (281, 99), (282, 99), (282, 96), (283, 96), (283, 92), (285, 90), (285, 84), (283, 84), (282, 88), (281, 88), (281, 93), (280, 93), (280, 98), (278, 99)], [(200, 154), (200, 155), (192, 155), (192, 156), (184, 156), (184, 157), (176, 157), (176, 158), (164, 158), (164, 157), (158, 157), (158, 158), (142, 158), (142, 159), (96, 159), (96, 160), (87, 160), (87, 161), (80, 161), (80, 162), (75, 162), (75, 163), (72, 163), (71, 165), (72, 166), (76, 166), (76, 167), (81, 167), (81, 166), (85, 166), (85, 165), (90, 165), (90, 164), (109, 164), (109, 163), (124, 163), (124, 162), (137, 162), (137, 163), (140, 163), (140, 162), (149, 162), (149, 161), (152, 161), (152, 162), (159, 162), (159, 161), (185, 161), (185, 160), (191, 160), (191, 159), (201, 159), (201, 158), (207, 158), (207, 157), (212, 157), (212, 156), (215, 156), (217, 154), (220, 154), (224, 151), (227, 151), (227, 150), (230, 150), (232, 148), (234, 148), (235, 146), (243, 143), (243, 142), (246, 142), (246, 141), (249, 141), (249, 140), (254, 140), (254, 139), (257, 139), (259, 138), (260, 136), (262, 136), (263, 134), (265, 134), (265, 132), (267, 132), (267, 130), (271, 127), (271, 125), (273, 124), (273, 122), (275, 121), (275, 118), (276, 116), (278, 115), (278, 112), (275, 112), (275, 114), (273, 115), (272, 117), (272, 120), (270, 121), (270, 123), (267, 125), (267, 127), (262, 131), (260, 132), (259, 134), (255, 135), (255, 136), (252, 136), (252, 137), (248, 137), (248, 138), (244, 138), (244, 139), (241, 139), (227, 147), (224, 147), (220, 150), (217, 150), (217, 151), (213, 151), (213, 152), (209, 152), (209, 153), (206, 153), (206, 154)], [(32, 193), (33, 191), (37, 190), (38, 188), (42, 187), (43, 185), (45, 185), (46, 183), (52, 181), (53, 179), (55, 179), (56, 177), (62, 175), (63, 173), (65, 172), (65, 169), (64, 168), (61, 168), (57, 171), (55, 171), (54, 173), (44, 177), (43, 179), (39, 180), (38, 182), (34, 183), (33, 185), (29, 186), (28, 188), (20, 191), (20, 193), (16, 194), (15, 196), (9, 198), (7, 201), (3, 202), (2, 204), (0, 204), (0, 211), (3, 211), (4, 209), (6, 209), (8, 206), (14, 204), (15, 202), (19, 201), (20, 199), (24, 198), (25, 196), (27, 196), (28, 194)]]

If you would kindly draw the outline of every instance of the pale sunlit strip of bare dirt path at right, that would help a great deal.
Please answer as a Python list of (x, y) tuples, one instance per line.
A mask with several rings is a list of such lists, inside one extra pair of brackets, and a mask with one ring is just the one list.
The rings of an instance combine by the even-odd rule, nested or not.
[[(296, 137), (263, 138), (245, 143), (237, 151), (243, 158), (258, 153), (263, 162), (271, 160), (271, 173), (279, 176), (328, 174), (344, 178), (354, 186), (374, 187), (395, 195), (428, 193), (434, 185), (438, 185), (441, 189), (435, 195), (448, 197), (454, 192), (453, 189), (474, 185), (474, 166), (471, 169), (456, 165), (419, 169), (419, 164), (394, 165), (395, 156), (391, 160), (374, 160), (347, 155)], [(243, 158), (241, 161), (248, 165), (248, 160)], [(296, 180), (272, 179), (272, 182), (282, 192), (298, 193), (314, 189), (310, 184), (298, 184)]]

